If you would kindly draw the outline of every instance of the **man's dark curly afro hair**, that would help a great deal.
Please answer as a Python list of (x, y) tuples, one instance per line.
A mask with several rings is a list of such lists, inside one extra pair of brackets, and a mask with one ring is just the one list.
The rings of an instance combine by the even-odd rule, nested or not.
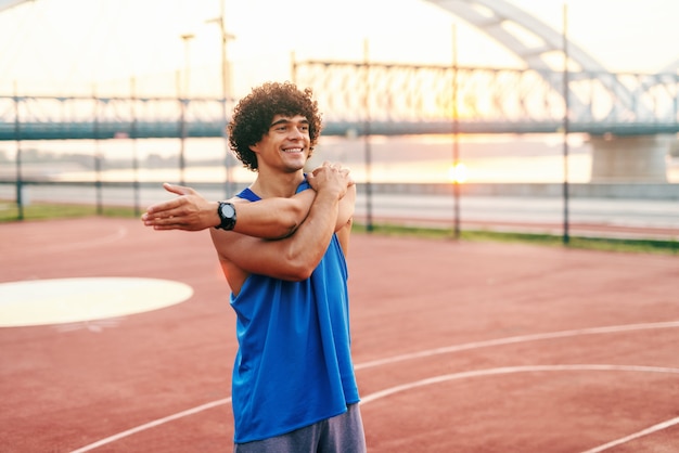
[(257, 171), (257, 155), (249, 146), (269, 132), (276, 115), (306, 117), (313, 151), (321, 133), (321, 114), (317, 101), (312, 100), (311, 89), (299, 90), (291, 82), (267, 82), (238, 103), (228, 126), (229, 146), (245, 168)]

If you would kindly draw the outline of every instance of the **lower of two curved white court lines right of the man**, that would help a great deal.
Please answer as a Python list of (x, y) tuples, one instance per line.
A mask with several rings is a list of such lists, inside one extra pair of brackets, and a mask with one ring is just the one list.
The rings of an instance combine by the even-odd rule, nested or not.
[(380, 390), (361, 398), (361, 404), (379, 400), (401, 391), (412, 390), (418, 387), (431, 386), (447, 380), (464, 379), (479, 376), (494, 376), (512, 373), (529, 373), (529, 372), (564, 372), (564, 371), (616, 371), (616, 372), (641, 372), (641, 373), (672, 373), (679, 374), (679, 368), (667, 368), (662, 366), (636, 366), (636, 365), (605, 365), (605, 364), (576, 364), (576, 365), (531, 365), (531, 366), (503, 366), (499, 368), (476, 370), (472, 372), (462, 372), (446, 374), (443, 376), (427, 377), (426, 379), (415, 380), (409, 384), (390, 387)]

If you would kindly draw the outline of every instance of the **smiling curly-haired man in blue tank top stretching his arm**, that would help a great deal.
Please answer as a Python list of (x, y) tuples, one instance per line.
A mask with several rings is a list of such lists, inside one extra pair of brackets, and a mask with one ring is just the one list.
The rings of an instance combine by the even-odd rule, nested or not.
[(158, 230), (217, 226), (210, 235), (236, 313), (238, 453), (366, 451), (345, 261), (356, 189), (338, 165), (305, 176), (320, 129), (309, 89), (265, 83), (229, 125), (255, 182), (220, 204), (167, 185), (180, 196), (143, 216)]

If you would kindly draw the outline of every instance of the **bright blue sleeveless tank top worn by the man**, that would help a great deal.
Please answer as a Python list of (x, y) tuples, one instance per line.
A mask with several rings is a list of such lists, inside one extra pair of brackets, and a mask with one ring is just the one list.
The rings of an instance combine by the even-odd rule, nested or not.
[[(308, 189), (305, 181), (297, 192)], [(249, 189), (239, 197), (260, 198)], [(340, 415), (359, 401), (350, 355), (347, 266), (333, 234), (311, 276), (251, 274), (238, 296), (232, 405), (236, 443)]]

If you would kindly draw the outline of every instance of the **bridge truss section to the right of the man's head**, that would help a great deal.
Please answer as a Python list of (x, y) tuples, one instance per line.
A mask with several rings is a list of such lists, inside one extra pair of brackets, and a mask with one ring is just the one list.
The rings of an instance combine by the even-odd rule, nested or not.
[[(299, 86), (313, 89), (329, 125), (358, 132), (370, 120), (372, 130), (447, 133), (456, 111), (464, 133), (555, 132), (565, 116), (564, 74), (549, 69), (309, 61), (293, 70)], [(578, 72), (567, 80), (573, 131), (678, 130), (677, 74)]]

